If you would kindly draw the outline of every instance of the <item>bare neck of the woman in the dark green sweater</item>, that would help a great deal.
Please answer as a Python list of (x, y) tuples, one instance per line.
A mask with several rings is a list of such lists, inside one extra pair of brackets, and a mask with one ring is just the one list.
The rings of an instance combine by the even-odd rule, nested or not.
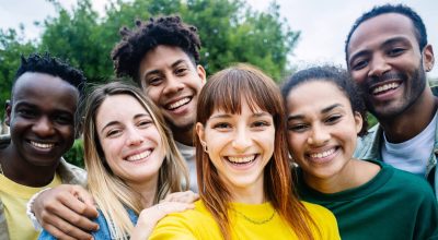
[(341, 172), (328, 178), (318, 178), (304, 172), (304, 181), (319, 192), (336, 193), (367, 183), (379, 170), (380, 167), (378, 165), (365, 160), (350, 159)]

